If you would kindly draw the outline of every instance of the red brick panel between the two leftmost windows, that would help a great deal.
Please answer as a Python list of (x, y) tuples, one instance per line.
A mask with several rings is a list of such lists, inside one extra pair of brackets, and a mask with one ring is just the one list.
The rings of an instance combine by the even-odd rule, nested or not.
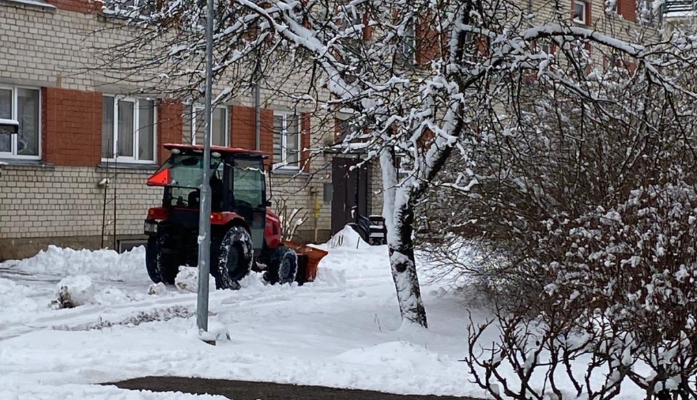
[(47, 87), (42, 95), (44, 160), (55, 165), (97, 165), (101, 160), (102, 94)]

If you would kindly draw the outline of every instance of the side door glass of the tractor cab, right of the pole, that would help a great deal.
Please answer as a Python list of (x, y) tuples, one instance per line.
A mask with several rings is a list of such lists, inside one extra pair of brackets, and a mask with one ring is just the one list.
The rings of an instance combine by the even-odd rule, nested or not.
[(235, 158), (233, 195), (236, 205), (263, 207), (264, 174), (259, 159)]

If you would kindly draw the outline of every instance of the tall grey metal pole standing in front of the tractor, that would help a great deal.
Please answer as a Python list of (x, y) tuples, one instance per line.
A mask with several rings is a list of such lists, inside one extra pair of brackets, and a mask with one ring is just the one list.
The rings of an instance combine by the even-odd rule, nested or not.
[(208, 331), (208, 276), (210, 274), (210, 114), (213, 92), (213, 0), (206, 1), (206, 106), (204, 131), (204, 182), (201, 182), (199, 209), (199, 290), (196, 323), (199, 332)]

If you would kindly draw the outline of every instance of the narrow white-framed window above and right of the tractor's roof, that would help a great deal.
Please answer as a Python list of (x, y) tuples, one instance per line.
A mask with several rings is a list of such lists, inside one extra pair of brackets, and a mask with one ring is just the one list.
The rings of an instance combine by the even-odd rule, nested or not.
[(300, 119), (294, 112), (273, 113), (274, 168), (300, 168)]

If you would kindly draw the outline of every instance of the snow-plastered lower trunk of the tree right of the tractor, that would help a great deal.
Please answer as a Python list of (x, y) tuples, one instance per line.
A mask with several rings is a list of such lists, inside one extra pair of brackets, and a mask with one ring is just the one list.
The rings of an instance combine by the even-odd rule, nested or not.
[(419, 279), (414, 260), (414, 242), (411, 237), (414, 222), (413, 199), (409, 186), (397, 187), (397, 168), (390, 151), (380, 157), (383, 172), (383, 216), (388, 228), (388, 250), (392, 279), (397, 290), (397, 302), (402, 321), (428, 327), (426, 309), (421, 299)]

